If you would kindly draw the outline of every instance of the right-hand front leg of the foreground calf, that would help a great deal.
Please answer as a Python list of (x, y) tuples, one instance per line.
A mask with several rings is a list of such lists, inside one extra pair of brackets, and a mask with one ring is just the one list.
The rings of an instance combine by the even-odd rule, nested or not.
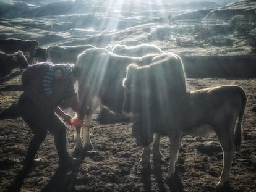
[(182, 141), (182, 134), (179, 132), (173, 132), (169, 135), (170, 140), (170, 161), (169, 161), (169, 168), (164, 181), (169, 180), (169, 178), (173, 177), (175, 172), (175, 164), (178, 159), (179, 155), (179, 148), (181, 146)]

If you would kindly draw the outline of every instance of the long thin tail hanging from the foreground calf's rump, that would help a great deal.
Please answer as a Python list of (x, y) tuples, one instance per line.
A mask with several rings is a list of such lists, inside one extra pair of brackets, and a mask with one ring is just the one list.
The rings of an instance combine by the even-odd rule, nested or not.
[(241, 147), (241, 144), (242, 144), (242, 141), (243, 141), (242, 117), (244, 116), (245, 106), (246, 106), (246, 103), (247, 103), (247, 96), (246, 96), (244, 90), (240, 86), (237, 86), (237, 91), (241, 95), (242, 106), (241, 106), (241, 109), (240, 109), (240, 112), (239, 112), (237, 128), (234, 131), (234, 144), (236, 146), (236, 150), (240, 151), (240, 147)]

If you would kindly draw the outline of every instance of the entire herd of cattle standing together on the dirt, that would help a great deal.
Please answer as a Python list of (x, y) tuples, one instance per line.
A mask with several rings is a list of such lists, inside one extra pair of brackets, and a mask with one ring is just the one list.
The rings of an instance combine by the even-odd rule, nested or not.
[(132, 136), (143, 146), (140, 161), (143, 167), (150, 165), (153, 134), (156, 133), (153, 161), (162, 158), (160, 137), (169, 137), (166, 181), (174, 175), (184, 136), (215, 133), (223, 150), (223, 169), (217, 187), (228, 182), (234, 152), (239, 150), (243, 138), (242, 118), (247, 97), (240, 86), (187, 91), (181, 57), (149, 44), (116, 45), (108, 49), (92, 45), (44, 49), (34, 40), (0, 40), (0, 77), (38, 61), (74, 63), (80, 71), (78, 99), (82, 111), (77, 116), (85, 120), (85, 130), (81, 137), (81, 127), (75, 129), (76, 149), (93, 148), (92, 115), (98, 107), (105, 106), (129, 117)]

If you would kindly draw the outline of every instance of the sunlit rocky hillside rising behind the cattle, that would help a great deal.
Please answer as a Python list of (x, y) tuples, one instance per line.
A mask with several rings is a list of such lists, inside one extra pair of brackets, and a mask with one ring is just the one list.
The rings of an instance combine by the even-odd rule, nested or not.
[[(229, 77), (256, 77), (252, 70), (255, 63), (252, 54), (256, 53), (256, 1), (224, 6), (220, 1), (173, 2), (166, 6), (158, 3), (151, 5), (153, 10), (149, 4), (140, 7), (136, 4), (139, 1), (133, 1), (128, 6), (129, 2), (122, 7), (101, 0), (61, 1), (41, 6), (23, 1), (14, 2), (9, 8), (1, 4), (0, 15), (10, 18), (0, 18), (0, 39), (33, 39), (43, 48), (56, 44), (92, 44), (99, 48), (155, 44), (163, 51), (182, 56), (190, 77), (220, 76), (217, 69), (228, 71)], [(182, 10), (182, 5), (186, 9)], [(12, 15), (14, 9), (19, 17)], [(168, 22), (168, 16), (172, 22)], [(249, 59), (244, 62), (245, 58)], [(235, 63), (236, 71), (228, 70), (227, 66)], [(242, 71), (240, 66), (250, 73)], [(204, 69), (203, 75), (197, 74), (197, 69)]]

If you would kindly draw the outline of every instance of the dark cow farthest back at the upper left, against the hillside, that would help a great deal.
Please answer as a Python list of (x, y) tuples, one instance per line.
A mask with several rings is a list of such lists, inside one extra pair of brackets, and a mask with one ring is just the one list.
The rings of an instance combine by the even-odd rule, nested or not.
[(6, 54), (14, 54), (14, 52), (22, 51), (30, 65), (34, 64), (33, 56), (38, 46), (39, 43), (35, 40), (20, 40), (15, 38), (0, 40), (0, 51)]

